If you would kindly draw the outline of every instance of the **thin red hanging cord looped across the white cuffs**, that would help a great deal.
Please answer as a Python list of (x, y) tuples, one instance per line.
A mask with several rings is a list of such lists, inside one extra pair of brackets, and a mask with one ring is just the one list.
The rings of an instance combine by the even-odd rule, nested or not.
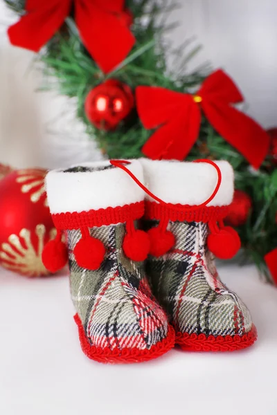
[[(139, 181), (138, 178), (136, 178), (136, 176), (134, 176), (134, 174), (132, 172), (129, 171), (129, 169), (127, 169), (127, 167), (125, 167), (125, 164), (129, 165), (131, 164), (130, 161), (127, 160), (109, 160), (109, 163), (111, 163), (111, 165), (113, 165), (114, 167), (118, 167), (119, 169), (124, 170), (124, 172), (126, 172), (127, 174), (129, 174), (129, 176), (133, 179), (133, 181), (139, 186), (141, 187), (141, 189), (148, 194), (148, 196), (152, 197), (152, 199), (154, 199), (154, 201), (157, 201), (159, 203), (161, 203), (162, 205), (167, 205), (167, 203), (161, 199), (159, 199), (159, 197), (155, 196), (152, 192), (150, 192), (150, 190), (148, 190), (147, 187), (145, 187), (145, 185), (143, 185), (143, 183), (141, 183)], [(206, 158), (201, 158), (199, 160), (194, 160), (193, 163), (208, 163), (210, 165), (212, 165), (213, 167), (215, 167), (216, 171), (217, 171), (217, 185), (215, 186), (215, 190), (213, 191), (213, 193), (211, 194), (211, 196), (204, 201), (203, 203), (201, 203), (200, 205), (197, 205), (197, 207), (192, 207), (192, 208), (188, 208), (189, 209), (200, 209), (203, 206), (208, 205), (208, 203), (210, 203), (216, 196), (218, 190), (220, 189), (220, 185), (222, 182), (222, 174), (220, 171), (220, 167), (218, 167), (212, 160), (207, 160)], [(179, 210), (180, 208), (176, 207), (176, 210)], [(181, 208), (183, 209), (183, 208)]]

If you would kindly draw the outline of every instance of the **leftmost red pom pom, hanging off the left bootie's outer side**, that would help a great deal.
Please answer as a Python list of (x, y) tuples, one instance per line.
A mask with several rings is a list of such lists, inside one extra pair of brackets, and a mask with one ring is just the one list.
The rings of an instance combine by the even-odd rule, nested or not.
[(67, 248), (62, 241), (49, 241), (42, 251), (42, 262), (51, 273), (56, 273), (66, 266)]

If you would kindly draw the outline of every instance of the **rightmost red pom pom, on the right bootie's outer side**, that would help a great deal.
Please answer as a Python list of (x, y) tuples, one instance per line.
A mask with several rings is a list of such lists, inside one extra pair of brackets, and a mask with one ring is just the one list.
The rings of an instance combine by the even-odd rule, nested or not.
[(233, 258), (240, 250), (240, 245), (238, 232), (229, 226), (218, 233), (208, 235), (208, 249), (220, 259)]

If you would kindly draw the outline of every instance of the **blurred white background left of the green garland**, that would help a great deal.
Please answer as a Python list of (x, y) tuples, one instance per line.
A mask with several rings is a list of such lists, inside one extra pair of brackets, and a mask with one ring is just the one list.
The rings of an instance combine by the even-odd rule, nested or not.
[(42, 82), (35, 53), (10, 46), (6, 36), (6, 27), (16, 20), (1, 2), (0, 163), (55, 168), (99, 159), (96, 145), (74, 117), (74, 100), (35, 92)]

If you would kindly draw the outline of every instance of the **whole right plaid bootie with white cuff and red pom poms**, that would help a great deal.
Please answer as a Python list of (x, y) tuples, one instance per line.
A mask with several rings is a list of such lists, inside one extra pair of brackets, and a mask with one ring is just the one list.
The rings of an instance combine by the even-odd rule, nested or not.
[(149, 196), (146, 202), (145, 228), (151, 241), (146, 270), (154, 295), (175, 326), (177, 344), (194, 351), (250, 346), (256, 328), (249, 310), (222, 284), (213, 263), (213, 254), (229, 259), (240, 248), (237, 232), (222, 221), (233, 198), (231, 165), (209, 160), (213, 166), (142, 163), (148, 189), (166, 202)]

